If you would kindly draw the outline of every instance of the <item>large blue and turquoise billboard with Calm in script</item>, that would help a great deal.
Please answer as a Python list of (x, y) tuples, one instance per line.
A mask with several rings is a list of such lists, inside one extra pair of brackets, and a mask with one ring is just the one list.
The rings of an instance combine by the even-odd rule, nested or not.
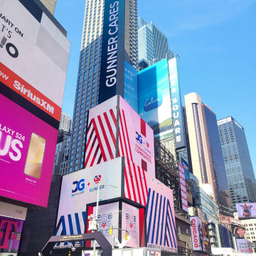
[(168, 60), (138, 73), (139, 115), (154, 130), (154, 136), (173, 137)]

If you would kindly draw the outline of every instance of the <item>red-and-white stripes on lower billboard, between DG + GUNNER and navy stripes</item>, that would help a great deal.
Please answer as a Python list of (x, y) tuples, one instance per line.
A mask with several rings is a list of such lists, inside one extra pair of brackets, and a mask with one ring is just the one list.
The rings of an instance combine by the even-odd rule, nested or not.
[(133, 162), (126, 161), (124, 164), (124, 179), (124, 197), (146, 206), (148, 188), (144, 170)]

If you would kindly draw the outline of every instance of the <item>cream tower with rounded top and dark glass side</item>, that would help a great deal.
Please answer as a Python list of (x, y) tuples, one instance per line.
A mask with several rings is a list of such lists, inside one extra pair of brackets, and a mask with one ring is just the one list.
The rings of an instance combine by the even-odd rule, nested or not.
[(185, 95), (185, 105), (193, 174), (199, 186), (213, 195), (220, 213), (232, 216), (216, 116), (195, 92)]

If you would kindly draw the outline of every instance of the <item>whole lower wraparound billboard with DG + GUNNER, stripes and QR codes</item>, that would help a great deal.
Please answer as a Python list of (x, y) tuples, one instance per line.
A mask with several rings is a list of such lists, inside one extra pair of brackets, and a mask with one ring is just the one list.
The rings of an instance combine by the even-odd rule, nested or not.
[[(105, 204), (99, 207), (98, 215), (106, 235), (110, 225), (119, 223), (118, 228), (127, 230), (131, 237), (127, 246), (144, 246), (146, 239), (152, 250), (177, 252), (173, 192), (126, 157), (63, 176), (56, 235), (84, 233), (86, 216), (95, 213), (95, 206), (90, 204), (97, 201), (96, 182), (102, 184), (99, 201)], [(117, 201), (118, 207), (114, 204)], [(119, 210), (122, 217), (118, 217)], [(117, 221), (117, 217), (122, 220)], [(123, 236), (119, 237), (119, 242), (122, 240)]]

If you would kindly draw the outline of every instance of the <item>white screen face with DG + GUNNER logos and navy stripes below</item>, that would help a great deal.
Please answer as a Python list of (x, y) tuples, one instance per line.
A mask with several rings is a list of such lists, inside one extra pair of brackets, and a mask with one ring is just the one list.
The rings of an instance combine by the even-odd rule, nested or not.
[(85, 232), (85, 211), (97, 201), (97, 184), (112, 185), (100, 185), (100, 201), (121, 196), (121, 157), (63, 176), (56, 235)]

